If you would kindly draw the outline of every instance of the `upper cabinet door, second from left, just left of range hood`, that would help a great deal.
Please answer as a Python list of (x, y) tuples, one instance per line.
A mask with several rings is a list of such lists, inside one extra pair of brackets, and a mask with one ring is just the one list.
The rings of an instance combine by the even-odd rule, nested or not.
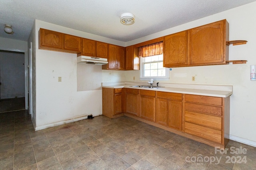
[(81, 37), (65, 34), (64, 49), (81, 53)]

